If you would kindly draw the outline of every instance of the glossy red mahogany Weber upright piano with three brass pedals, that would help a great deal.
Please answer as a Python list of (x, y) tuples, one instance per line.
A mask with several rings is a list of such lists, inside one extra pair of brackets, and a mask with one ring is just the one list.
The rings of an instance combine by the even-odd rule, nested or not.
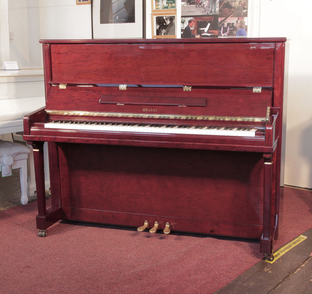
[(273, 258), (285, 38), (40, 42), (46, 107), (24, 117), (39, 236), (89, 221), (258, 239)]

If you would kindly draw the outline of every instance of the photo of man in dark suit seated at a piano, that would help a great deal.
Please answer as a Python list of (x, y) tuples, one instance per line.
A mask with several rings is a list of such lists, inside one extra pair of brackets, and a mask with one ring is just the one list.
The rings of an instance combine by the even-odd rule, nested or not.
[(181, 18), (181, 38), (217, 38), (218, 17), (193, 16)]

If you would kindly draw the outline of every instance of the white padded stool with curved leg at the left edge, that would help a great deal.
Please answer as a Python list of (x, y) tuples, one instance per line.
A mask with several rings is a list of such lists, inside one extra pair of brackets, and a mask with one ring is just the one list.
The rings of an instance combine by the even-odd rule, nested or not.
[(9, 141), (0, 140), (0, 169), (3, 165), (12, 165), (12, 169), (20, 169), (21, 202), (27, 204), (27, 158), (29, 148)]

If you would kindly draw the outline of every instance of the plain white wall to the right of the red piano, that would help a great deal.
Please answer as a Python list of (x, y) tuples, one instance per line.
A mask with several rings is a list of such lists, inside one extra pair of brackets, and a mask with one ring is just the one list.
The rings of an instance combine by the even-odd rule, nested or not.
[(312, 1), (262, 0), (260, 37), (288, 38), (285, 184), (312, 188)]

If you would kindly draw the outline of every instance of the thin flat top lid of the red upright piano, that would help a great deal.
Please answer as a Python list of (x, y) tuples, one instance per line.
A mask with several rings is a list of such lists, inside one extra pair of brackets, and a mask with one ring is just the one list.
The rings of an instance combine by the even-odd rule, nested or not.
[(89, 40), (39, 40), (43, 44), (146, 44), (146, 43), (283, 43), (287, 38), (189, 38), (189, 39), (89, 39)]

